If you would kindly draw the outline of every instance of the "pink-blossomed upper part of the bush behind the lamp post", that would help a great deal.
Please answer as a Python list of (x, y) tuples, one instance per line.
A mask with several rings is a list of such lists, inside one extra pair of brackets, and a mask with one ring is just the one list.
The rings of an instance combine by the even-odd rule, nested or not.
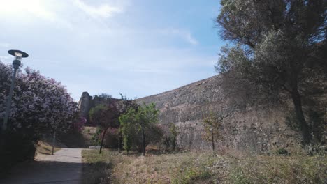
[[(6, 74), (1, 75), (1, 82), (5, 85), (0, 88), (0, 118), (3, 118), (10, 84), (10, 68), (0, 64), (1, 74)], [(46, 78), (31, 68), (26, 68), (25, 71), (26, 74), (17, 73), (9, 116), (10, 128), (32, 128), (38, 133), (49, 130), (66, 132), (73, 121), (76, 121), (78, 114), (73, 98), (60, 82)]]

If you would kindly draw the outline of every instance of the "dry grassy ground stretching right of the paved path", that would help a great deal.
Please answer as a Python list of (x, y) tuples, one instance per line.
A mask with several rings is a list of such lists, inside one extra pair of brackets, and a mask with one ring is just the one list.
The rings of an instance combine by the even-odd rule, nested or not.
[(82, 151), (86, 183), (326, 183), (325, 156), (232, 157), (168, 153), (140, 157)]

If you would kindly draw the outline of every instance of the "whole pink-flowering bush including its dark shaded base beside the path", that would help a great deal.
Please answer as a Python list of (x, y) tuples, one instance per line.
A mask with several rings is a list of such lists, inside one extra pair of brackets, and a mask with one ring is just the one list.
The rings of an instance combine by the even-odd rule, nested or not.
[[(6, 111), (6, 100), (10, 89), (11, 68), (0, 61), (1, 123)], [(31, 68), (26, 68), (25, 72), (19, 70), (13, 91), (8, 129), (0, 135), (2, 140), (6, 140), (0, 142), (0, 157), (4, 154), (5, 148), (6, 155), (13, 155), (14, 152), (17, 152), (17, 150), (10, 150), (10, 145), (17, 143), (16, 147), (19, 145), (32, 146), (32, 148), (21, 148), (23, 151), (20, 151), (20, 154), (22, 157), (31, 155), (30, 158), (34, 158), (33, 146), (41, 134), (66, 132), (72, 127), (73, 122), (78, 122), (78, 117), (77, 104), (60, 82), (44, 77), (40, 72)], [(78, 125), (76, 128), (81, 127)], [(29, 144), (26, 144), (27, 141)], [(22, 142), (25, 144), (21, 144)], [(24, 150), (33, 153), (24, 153)], [(3, 159), (8, 158), (4, 156)]]

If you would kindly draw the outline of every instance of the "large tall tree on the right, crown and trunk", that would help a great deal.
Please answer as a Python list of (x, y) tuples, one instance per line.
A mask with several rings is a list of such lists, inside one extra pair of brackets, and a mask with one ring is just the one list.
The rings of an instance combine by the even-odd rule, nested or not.
[(242, 104), (278, 102), (287, 94), (305, 144), (310, 126), (302, 98), (321, 93), (327, 79), (326, 6), (324, 0), (221, 0), (217, 17), (221, 37), (233, 43), (215, 66), (221, 87)]

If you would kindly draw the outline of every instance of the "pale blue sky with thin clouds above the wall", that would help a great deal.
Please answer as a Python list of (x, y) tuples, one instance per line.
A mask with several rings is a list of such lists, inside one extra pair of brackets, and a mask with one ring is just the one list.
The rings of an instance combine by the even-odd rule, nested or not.
[(0, 60), (83, 91), (142, 98), (217, 75), (219, 0), (0, 0)]

